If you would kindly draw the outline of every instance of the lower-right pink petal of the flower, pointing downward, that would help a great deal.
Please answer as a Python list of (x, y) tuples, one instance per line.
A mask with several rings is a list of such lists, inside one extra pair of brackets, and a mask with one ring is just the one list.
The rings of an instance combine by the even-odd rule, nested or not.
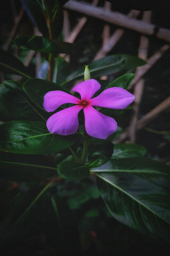
[(91, 137), (107, 139), (109, 135), (116, 131), (117, 123), (112, 117), (101, 114), (91, 106), (84, 108), (83, 111), (86, 132)]

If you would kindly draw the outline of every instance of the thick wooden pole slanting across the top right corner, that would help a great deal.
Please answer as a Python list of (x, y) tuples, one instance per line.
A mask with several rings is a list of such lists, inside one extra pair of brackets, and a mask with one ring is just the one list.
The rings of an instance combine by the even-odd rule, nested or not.
[[(126, 15), (118, 12), (106, 11), (102, 7), (91, 6), (87, 3), (70, 0), (64, 7), (72, 11), (81, 12), (83, 14), (105, 20), (117, 26), (132, 29), (146, 35), (155, 35), (157, 38), (170, 42), (170, 30), (166, 28), (158, 28), (154, 24), (148, 24), (144, 21), (134, 20)], [(157, 33), (155, 33), (157, 31)]]

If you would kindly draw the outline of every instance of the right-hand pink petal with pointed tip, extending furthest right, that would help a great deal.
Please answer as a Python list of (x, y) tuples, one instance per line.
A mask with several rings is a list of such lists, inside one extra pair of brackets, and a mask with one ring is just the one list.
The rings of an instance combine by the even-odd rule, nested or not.
[(124, 109), (134, 100), (134, 95), (123, 88), (112, 87), (101, 92), (96, 98), (90, 100), (91, 106)]

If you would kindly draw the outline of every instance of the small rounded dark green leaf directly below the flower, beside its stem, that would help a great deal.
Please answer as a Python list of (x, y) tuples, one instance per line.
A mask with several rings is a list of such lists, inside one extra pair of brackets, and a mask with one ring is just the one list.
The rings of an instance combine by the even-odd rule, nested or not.
[(57, 165), (58, 175), (68, 180), (82, 180), (90, 175), (88, 166), (73, 161), (63, 161)]

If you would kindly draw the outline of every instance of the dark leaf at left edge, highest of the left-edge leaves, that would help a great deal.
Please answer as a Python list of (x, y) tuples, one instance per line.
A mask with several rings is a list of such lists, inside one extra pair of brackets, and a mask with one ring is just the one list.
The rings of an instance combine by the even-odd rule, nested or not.
[(0, 50), (0, 71), (31, 78), (29, 69), (19, 59), (3, 50)]

